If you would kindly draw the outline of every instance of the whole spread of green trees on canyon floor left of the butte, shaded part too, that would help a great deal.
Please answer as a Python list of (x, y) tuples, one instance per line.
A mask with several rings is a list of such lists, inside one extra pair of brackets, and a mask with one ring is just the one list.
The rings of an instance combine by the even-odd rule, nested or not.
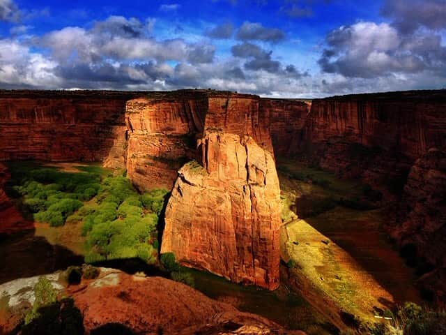
[[(86, 262), (157, 259), (157, 223), (167, 190), (139, 194), (121, 173), (99, 166), (60, 171), (36, 163), (11, 163), (8, 190), (24, 214), (53, 227), (82, 224)], [(74, 270), (73, 270), (74, 271)]]

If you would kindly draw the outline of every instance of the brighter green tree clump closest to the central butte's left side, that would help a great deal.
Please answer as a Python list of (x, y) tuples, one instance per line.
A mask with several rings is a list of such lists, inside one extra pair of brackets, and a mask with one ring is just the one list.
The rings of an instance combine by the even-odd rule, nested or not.
[(156, 262), (158, 215), (164, 207), (166, 190), (139, 195), (122, 176), (102, 181), (95, 205), (86, 209), (83, 233), (87, 236), (86, 262), (141, 258)]

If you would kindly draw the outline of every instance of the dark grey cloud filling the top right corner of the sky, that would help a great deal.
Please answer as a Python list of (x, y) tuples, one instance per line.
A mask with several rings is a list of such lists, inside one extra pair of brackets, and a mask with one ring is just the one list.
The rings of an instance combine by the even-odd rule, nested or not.
[(385, 0), (381, 14), (390, 17), (403, 34), (411, 34), (420, 27), (446, 28), (445, 0)]

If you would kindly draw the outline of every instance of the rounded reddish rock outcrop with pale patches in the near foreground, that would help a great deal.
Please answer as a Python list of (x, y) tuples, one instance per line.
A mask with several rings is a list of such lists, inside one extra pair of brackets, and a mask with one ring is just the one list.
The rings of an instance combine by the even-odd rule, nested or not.
[[(59, 297), (72, 297), (83, 316), (86, 334), (303, 334), (228, 304), (209, 299), (182, 283), (160, 277), (100, 271), (98, 278), (77, 285), (61, 285), (59, 274), (45, 276)], [(38, 277), (0, 285), (0, 333), (9, 334), (29, 311)], [(108, 329), (108, 333), (105, 333)], [(121, 333), (119, 333), (121, 334)]]

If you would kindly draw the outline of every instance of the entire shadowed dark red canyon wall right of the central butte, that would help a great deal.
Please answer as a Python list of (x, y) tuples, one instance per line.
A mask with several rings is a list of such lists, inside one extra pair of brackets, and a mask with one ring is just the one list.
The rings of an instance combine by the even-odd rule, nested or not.
[(282, 138), (293, 147), (288, 158), (381, 191), (395, 208), (387, 232), (418, 271), (432, 270), (422, 285), (446, 301), (446, 90), (316, 99), (303, 126), (290, 117), (301, 133)]

